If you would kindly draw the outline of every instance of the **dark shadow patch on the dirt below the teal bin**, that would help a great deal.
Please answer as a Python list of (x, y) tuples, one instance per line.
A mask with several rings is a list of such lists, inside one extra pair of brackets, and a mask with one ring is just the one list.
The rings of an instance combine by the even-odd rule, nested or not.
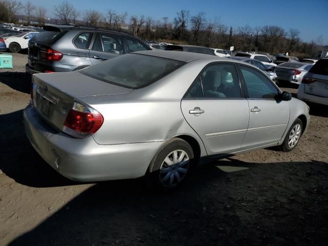
[(16, 91), (31, 93), (31, 77), (24, 72), (1, 72), (0, 81)]

